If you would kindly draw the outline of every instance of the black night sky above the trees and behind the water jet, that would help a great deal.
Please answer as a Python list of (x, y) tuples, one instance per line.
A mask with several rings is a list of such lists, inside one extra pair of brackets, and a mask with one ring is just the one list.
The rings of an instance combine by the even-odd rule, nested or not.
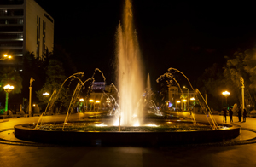
[[(111, 83), (115, 32), (123, 0), (36, 0), (55, 19), (55, 44), (72, 55), (79, 71), (99, 68)], [(60, 2), (60, 1), (59, 1)], [(154, 82), (169, 67), (191, 80), (224, 55), (256, 42), (253, 1), (133, 0), (134, 21), (145, 71)]]

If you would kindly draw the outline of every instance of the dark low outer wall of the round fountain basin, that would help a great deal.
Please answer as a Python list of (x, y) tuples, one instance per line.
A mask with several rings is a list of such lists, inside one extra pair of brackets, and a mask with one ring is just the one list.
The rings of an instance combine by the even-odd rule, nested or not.
[(240, 135), (239, 126), (227, 124), (219, 130), (183, 131), (61, 131), (36, 130), (28, 128), (30, 126), (31, 124), (15, 125), (15, 137), (25, 141), (64, 145), (163, 146), (225, 141)]

